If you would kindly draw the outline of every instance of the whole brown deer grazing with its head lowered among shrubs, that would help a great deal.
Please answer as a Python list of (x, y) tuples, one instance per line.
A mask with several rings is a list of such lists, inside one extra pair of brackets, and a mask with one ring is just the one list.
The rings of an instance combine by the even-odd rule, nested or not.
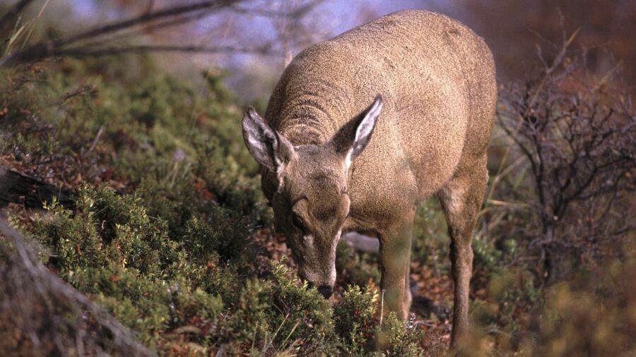
[(264, 118), (247, 109), (242, 134), (300, 277), (329, 298), (341, 236), (377, 236), (382, 310), (406, 320), (413, 219), (435, 197), (451, 241), (457, 347), (496, 102), (490, 49), (439, 13), (391, 13), (295, 56)]

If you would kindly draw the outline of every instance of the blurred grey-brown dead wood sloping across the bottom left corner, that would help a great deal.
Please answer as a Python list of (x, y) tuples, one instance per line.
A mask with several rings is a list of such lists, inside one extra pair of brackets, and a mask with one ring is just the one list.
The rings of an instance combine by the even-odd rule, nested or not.
[[(0, 219), (0, 330), (42, 356), (155, 356), (102, 307), (42, 265), (26, 239)], [(11, 349), (11, 343), (1, 344)]]

